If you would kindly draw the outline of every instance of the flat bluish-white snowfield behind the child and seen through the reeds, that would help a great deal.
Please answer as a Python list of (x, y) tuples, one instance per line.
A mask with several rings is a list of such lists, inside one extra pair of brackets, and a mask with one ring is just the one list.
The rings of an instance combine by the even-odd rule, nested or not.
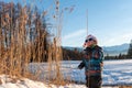
[[(85, 82), (84, 69), (77, 69), (80, 61), (65, 61), (62, 62), (62, 73), (65, 78), (70, 77), (70, 80), (77, 82)], [(45, 69), (46, 64), (31, 64), (30, 68), (33, 72), (36, 69), (43, 70), (43, 74), (47, 70)], [(53, 65), (54, 66), (54, 65)], [(41, 78), (44, 75), (40, 75)], [(55, 74), (53, 74), (55, 75)], [(45, 77), (46, 74), (45, 74)], [(122, 59), (122, 61), (105, 61), (103, 72), (102, 72), (102, 85), (132, 85), (132, 59)]]

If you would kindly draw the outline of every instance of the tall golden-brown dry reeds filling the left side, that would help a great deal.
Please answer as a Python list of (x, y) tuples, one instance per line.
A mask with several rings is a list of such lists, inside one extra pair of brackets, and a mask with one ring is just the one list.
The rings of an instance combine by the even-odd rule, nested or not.
[(28, 70), (30, 62), (42, 63), (47, 58), (50, 78), (53, 70), (52, 64), (55, 62), (56, 77), (53, 82), (64, 82), (59, 72), (62, 25), (59, 24), (58, 3), (56, 0), (57, 29), (56, 36), (52, 36), (53, 40), (50, 40), (51, 36), (46, 32), (47, 28), (43, 26), (44, 15), (40, 16), (37, 11), (32, 12), (26, 6), (18, 4), (18, 11), (14, 10), (15, 4), (12, 2), (2, 6), (0, 15), (0, 74), (34, 79), (40, 76), (41, 72), (36, 72), (35, 75), (30, 74)]

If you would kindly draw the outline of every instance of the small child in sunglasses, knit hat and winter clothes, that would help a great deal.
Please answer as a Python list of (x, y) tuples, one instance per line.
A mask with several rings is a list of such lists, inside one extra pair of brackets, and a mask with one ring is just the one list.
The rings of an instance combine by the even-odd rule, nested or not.
[(79, 69), (85, 67), (86, 86), (88, 88), (101, 88), (101, 72), (103, 66), (102, 48), (97, 45), (97, 38), (94, 35), (86, 37), (84, 46), (85, 56), (78, 65)]

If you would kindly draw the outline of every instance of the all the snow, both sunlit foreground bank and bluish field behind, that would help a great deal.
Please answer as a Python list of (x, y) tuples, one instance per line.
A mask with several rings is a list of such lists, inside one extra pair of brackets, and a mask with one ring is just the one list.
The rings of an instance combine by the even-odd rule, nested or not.
[[(80, 61), (65, 61), (62, 62), (62, 73), (65, 76), (70, 76), (72, 80), (84, 82), (85, 84), (85, 74), (84, 69), (77, 69)], [(31, 73), (35, 74), (37, 70), (42, 70), (42, 75), (40, 78), (46, 77), (44, 76), (47, 73), (46, 63), (43, 64), (30, 64), (29, 68)], [(103, 72), (102, 72), (102, 88), (119, 88), (119, 87), (110, 87), (116, 85), (132, 85), (132, 59), (125, 61), (105, 61)], [(54, 77), (54, 76), (53, 76)], [(48, 85), (47, 82), (34, 81), (28, 78), (20, 78), (15, 81), (12, 81), (10, 76), (0, 75), (1, 85), (0, 88), (86, 88), (84, 84), (67, 84), (65, 86), (56, 86)], [(105, 87), (108, 86), (109, 87)]]

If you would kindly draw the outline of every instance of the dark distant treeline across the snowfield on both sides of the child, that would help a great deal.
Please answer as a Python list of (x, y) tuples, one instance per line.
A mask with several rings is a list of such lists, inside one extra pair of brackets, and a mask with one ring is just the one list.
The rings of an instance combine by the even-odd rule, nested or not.
[[(79, 61), (84, 56), (82, 51), (79, 52), (77, 48), (68, 50), (63, 48), (63, 58), (64, 59), (72, 59), (72, 61)], [(130, 43), (130, 47), (127, 54), (119, 54), (119, 55), (109, 55), (105, 56), (105, 59), (131, 59), (132, 58), (132, 41)]]

